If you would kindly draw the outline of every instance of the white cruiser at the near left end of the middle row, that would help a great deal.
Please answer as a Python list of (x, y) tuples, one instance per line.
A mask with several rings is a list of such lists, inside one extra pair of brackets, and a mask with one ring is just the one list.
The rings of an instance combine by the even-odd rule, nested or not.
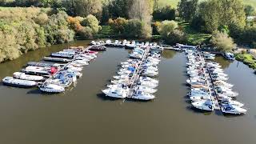
[(122, 87), (113, 87), (109, 89), (102, 90), (104, 94), (108, 97), (112, 98), (126, 98), (128, 94), (129, 88), (122, 88)]

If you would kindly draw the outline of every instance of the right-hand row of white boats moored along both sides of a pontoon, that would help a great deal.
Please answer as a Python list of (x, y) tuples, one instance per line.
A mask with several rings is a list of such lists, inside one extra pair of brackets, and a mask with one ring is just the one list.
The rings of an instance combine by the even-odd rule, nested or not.
[[(243, 103), (235, 101), (237, 92), (227, 82), (225, 74), (217, 62), (206, 62), (205, 54), (198, 50), (186, 50), (187, 84), (190, 86), (188, 96), (192, 106), (200, 110), (213, 111), (221, 109), (224, 114), (245, 114)], [(210, 55), (210, 54), (209, 54)]]

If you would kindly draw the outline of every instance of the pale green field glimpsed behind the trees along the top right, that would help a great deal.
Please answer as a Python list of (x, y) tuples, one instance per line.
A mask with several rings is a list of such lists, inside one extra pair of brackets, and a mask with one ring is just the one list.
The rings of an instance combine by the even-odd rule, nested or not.
[[(202, 2), (202, 1), (205, 1), (205, 0), (199, 0), (199, 2)], [(179, 0), (158, 0), (158, 6), (162, 7), (162, 6), (169, 5), (169, 6), (176, 7), (178, 2)], [(246, 5), (251, 5), (256, 8), (256, 0), (243, 0), (243, 2)]]

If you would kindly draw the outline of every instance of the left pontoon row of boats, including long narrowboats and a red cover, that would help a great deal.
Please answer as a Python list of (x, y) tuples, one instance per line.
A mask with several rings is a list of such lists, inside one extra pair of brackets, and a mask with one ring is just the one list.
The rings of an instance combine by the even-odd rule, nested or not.
[[(43, 62), (28, 62), (13, 77), (2, 79), (3, 84), (17, 87), (35, 87), (48, 93), (61, 93), (82, 77), (83, 66), (97, 58), (98, 52), (72, 47), (50, 54)], [(58, 63), (55, 63), (58, 62)]]

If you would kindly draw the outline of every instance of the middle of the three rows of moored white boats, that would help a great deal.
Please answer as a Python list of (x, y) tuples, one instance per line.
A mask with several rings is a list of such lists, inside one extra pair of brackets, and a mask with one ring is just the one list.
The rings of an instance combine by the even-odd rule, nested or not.
[(158, 63), (161, 51), (147, 48), (134, 48), (130, 59), (120, 63), (120, 69), (111, 84), (102, 90), (111, 98), (133, 98), (138, 100), (152, 100), (157, 92)]

